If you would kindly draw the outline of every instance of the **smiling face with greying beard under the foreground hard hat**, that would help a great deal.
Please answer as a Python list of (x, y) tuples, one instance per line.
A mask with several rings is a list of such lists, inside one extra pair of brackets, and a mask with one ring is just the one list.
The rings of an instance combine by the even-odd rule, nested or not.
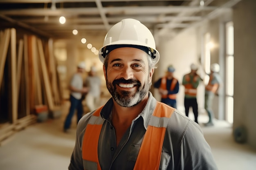
[(154, 69), (149, 71), (148, 55), (136, 48), (122, 47), (109, 53), (103, 66), (108, 91), (117, 104), (132, 107), (146, 97)]

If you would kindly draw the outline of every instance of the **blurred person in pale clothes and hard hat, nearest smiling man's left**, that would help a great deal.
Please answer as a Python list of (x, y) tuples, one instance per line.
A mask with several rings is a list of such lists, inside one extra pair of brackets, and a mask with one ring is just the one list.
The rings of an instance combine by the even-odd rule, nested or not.
[(97, 76), (95, 66), (91, 67), (88, 77), (85, 79), (85, 86), (88, 87), (88, 93), (85, 98), (86, 105), (89, 111), (92, 112), (99, 107), (101, 97), (101, 79)]

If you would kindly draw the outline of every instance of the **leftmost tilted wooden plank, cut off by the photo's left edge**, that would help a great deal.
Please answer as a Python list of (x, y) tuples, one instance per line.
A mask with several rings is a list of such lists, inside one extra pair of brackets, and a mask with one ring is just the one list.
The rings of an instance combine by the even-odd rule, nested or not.
[(10, 42), (10, 29), (4, 30), (3, 38), (0, 41), (0, 87), (4, 74), (4, 64), (6, 61), (7, 50)]

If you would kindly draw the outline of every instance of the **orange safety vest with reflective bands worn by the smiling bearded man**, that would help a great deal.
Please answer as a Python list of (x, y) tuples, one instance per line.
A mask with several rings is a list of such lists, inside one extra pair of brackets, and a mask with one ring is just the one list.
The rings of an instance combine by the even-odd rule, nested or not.
[[(103, 106), (102, 106), (103, 107)], [(97, 163), (97, 170), (101, 170), (98, 158), (98, 143), (104, 120), (98, 108), (93, 113), (83, 137), (83, 160)], [(159, 170), (162, 146), (168, 121), (175, 108), (157, 102), (154, 113), (145, 132), (134, 170)]]

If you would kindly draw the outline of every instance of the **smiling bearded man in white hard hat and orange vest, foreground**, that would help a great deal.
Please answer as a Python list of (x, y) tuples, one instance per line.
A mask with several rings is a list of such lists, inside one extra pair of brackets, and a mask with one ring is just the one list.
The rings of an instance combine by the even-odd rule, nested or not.
[(159, 60), (149, 29), (121, 20), (100, 52), (112, 98), (79, 121), (69, 170), (217, 170), (200, 126), (149, 92)]

